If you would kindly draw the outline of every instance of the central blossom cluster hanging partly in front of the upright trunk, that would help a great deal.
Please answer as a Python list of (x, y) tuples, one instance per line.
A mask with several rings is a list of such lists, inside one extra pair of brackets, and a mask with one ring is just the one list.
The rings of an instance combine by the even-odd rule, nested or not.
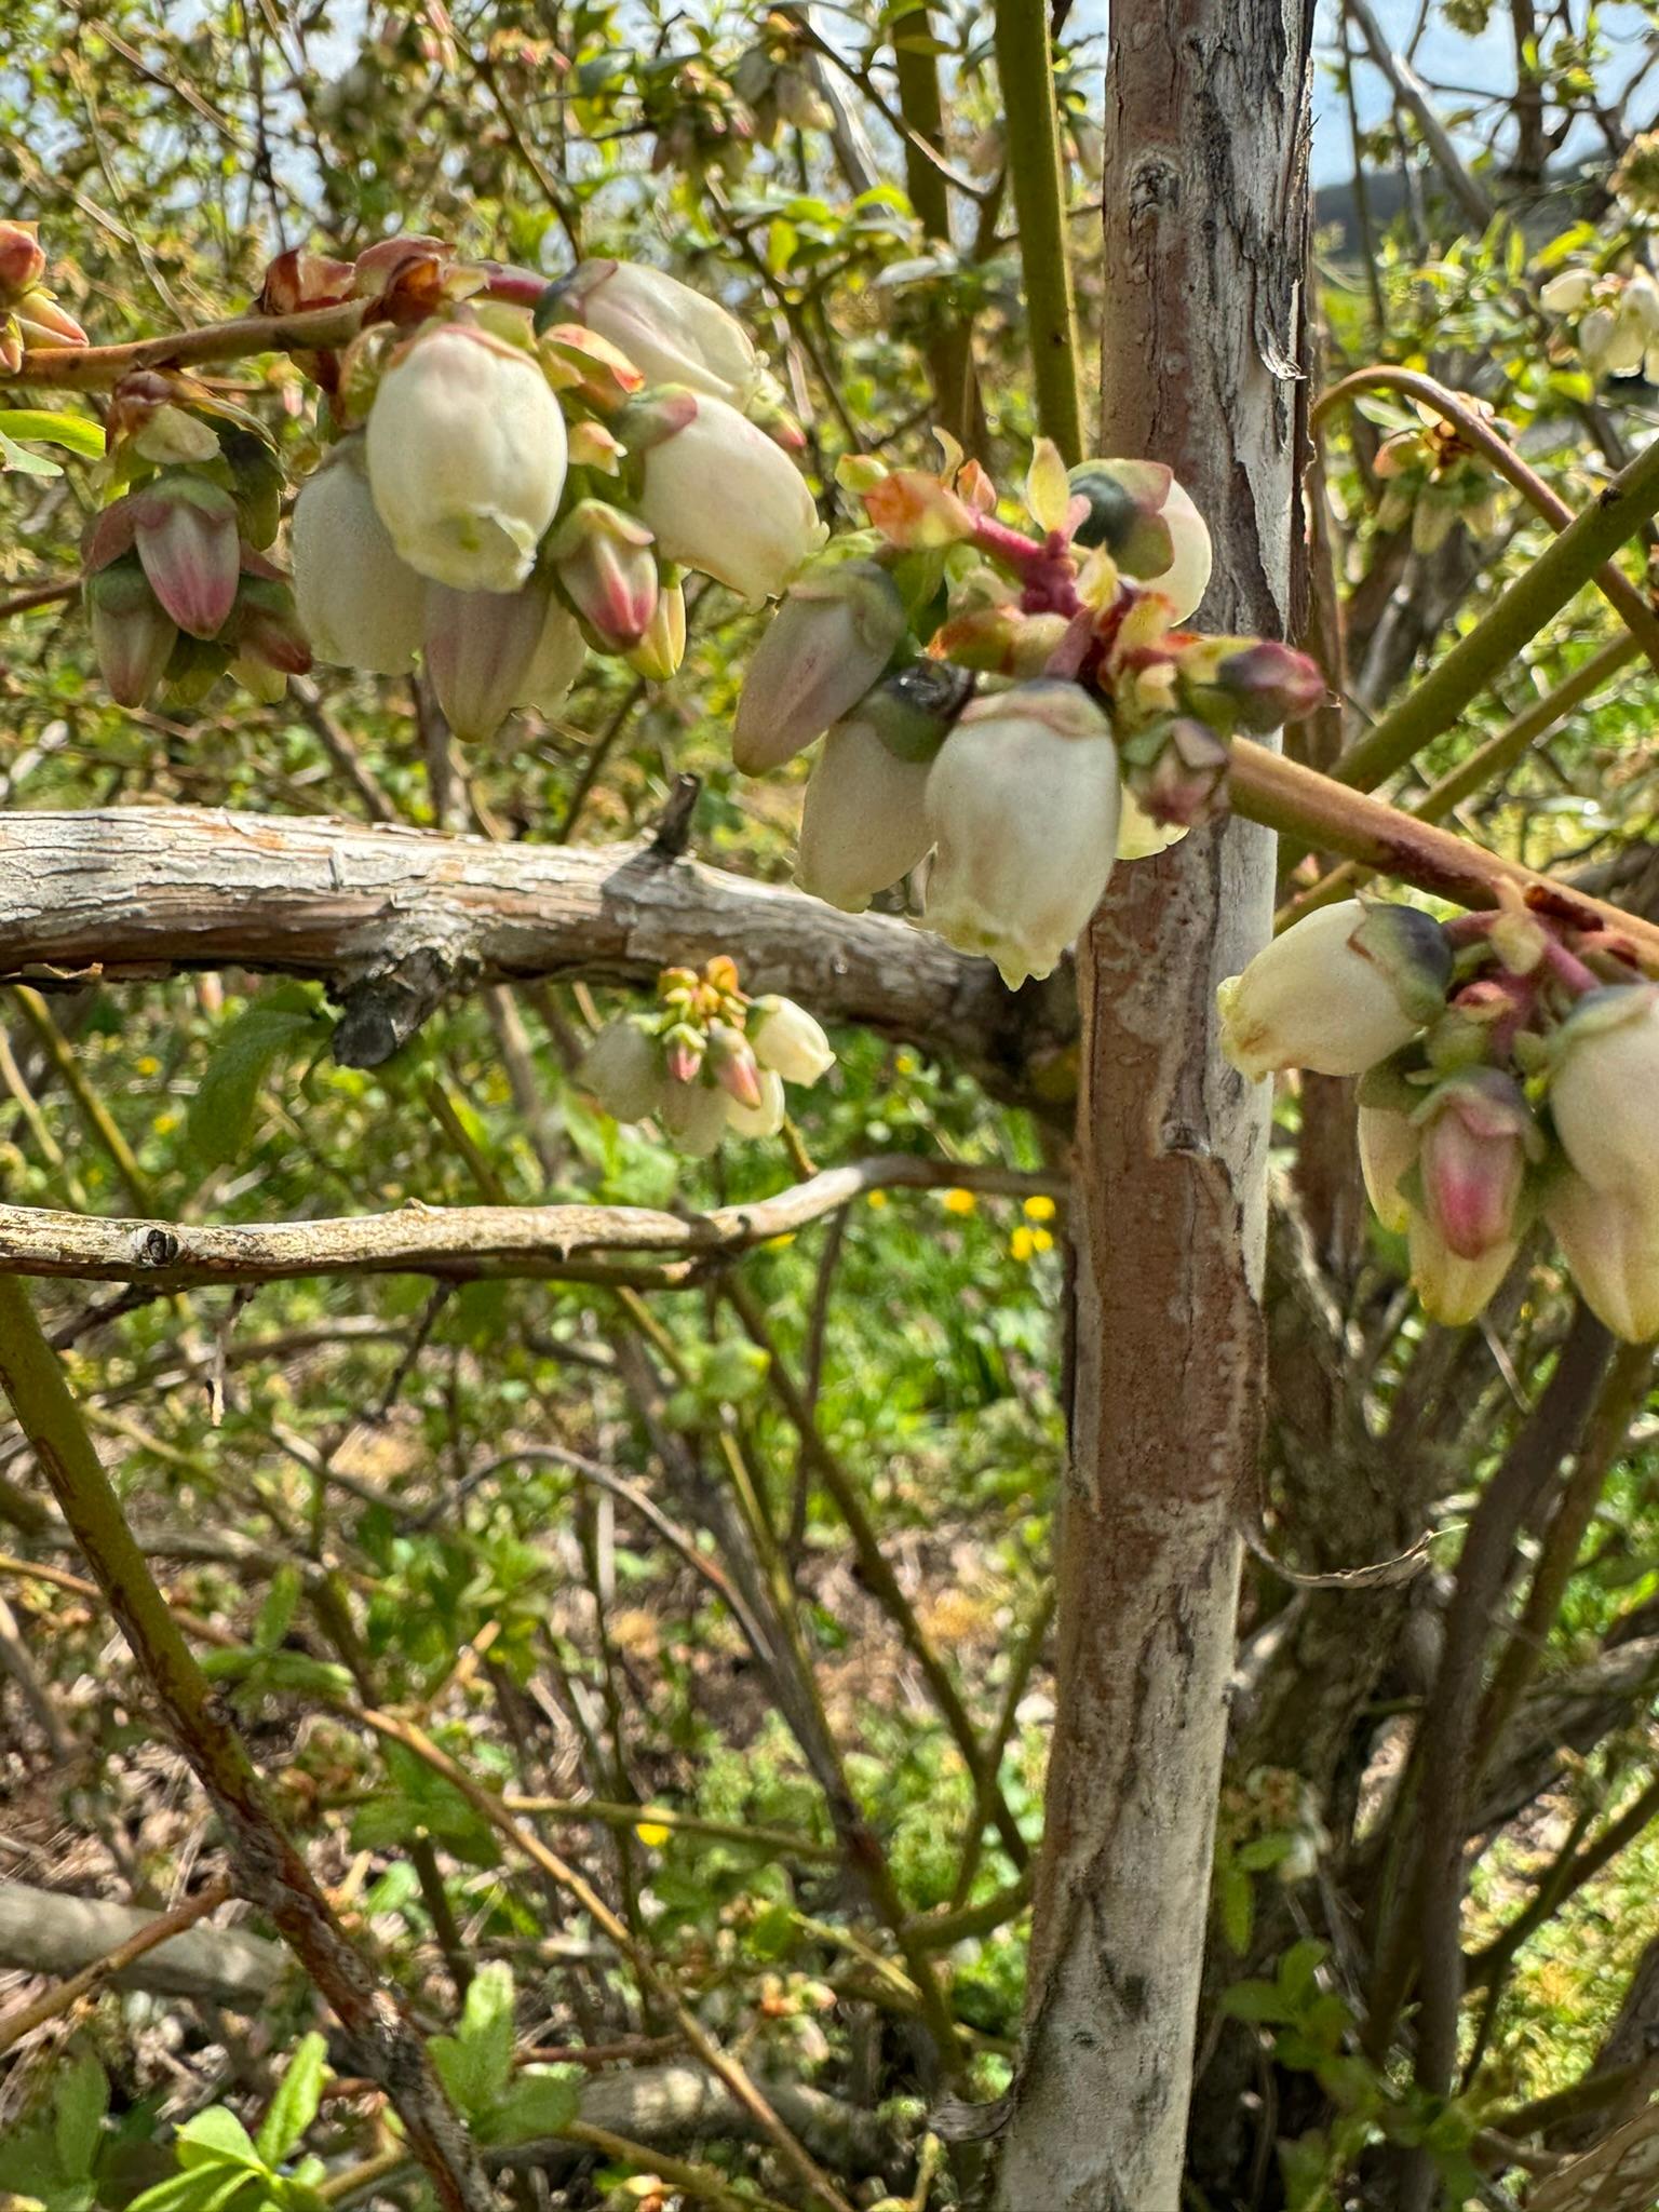
[(869, 526), (790, 586), (734, 759), (759, 774), (823, 739), (796, 880), (856, 914), (927, 863), (922, 927), (1015, 987), (1053, 971), (1115, 858), (1223, 803), (1234, 732), (1305, 714), (1325, 684), (1287, 646), (1179, 628), (1210, 533), (1166, 467), (1066, 471), (1040, 440), (1033, 533), (942, 442), (938, 476), (843, 465)]

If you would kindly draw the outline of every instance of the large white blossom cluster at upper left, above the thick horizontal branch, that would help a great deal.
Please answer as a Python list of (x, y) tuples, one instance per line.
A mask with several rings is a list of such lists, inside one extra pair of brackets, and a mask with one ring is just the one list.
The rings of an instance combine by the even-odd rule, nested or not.
[(294, 504), (299, 613), (319, 659), (422, 655), (458, 737), (555, 712), (588, 650), (670, 677), (688, 568), (765, 599), (823, 542), (776, 385), (701, 292), (622, 261), (544, 285), (396, 239), (285, 257), (265, 303), (365, 290), (374, 316), (319, 365), (341, 436)]

